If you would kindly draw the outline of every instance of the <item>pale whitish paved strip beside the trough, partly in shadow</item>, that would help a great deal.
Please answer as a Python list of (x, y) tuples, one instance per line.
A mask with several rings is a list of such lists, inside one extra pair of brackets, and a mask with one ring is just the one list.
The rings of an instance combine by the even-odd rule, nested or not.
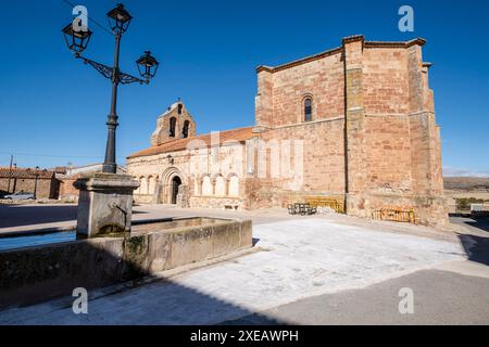
[(214, 324), (287, 303), (383, 282), (463, 260), (460, 243), (292, 219), (254, 227), (263, 252), (89, 303), (0, 312), (0, 324)]

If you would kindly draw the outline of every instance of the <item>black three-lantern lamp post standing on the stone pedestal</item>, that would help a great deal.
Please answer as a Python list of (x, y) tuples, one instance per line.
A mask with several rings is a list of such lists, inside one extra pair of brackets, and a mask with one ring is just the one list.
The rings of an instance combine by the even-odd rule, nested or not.
[(146, 83), (148, 85), (150, 79), (154, 77), (158, 70), (159, 62), (151, 56), (149, 51), (145, 52), (139, 60), (137, 60), (137, 66), (139, 74), (143, 79), (134, 77), (128, 74), (121, 73), (118, 67), (118, 57), (121, 51), (121, 38), (123, 34), (127, 30), (133, 16), (124, 9), (122, 3), (117, 4), (115, 9), (109, 11), (106, 14), (109, 20), (109, 25), (112, 33), (115, 35), (115, 52), (114, 52), (114, 64), (112, 67), (97, 63), (89, 59), (82, 56), (82, 52), (88, 46), (90, 41), (91, 31), (87, 27), (77, 26), (75, 24), (70, 24), (63, 29), (67, 47), (75, 53), (76, 59), (82, 59), (85, 64), (89, 64), (95, 67), (100, 74), (105, 78), (112, 80), (112, 103), (111, 111), (109, 114), (109, 119), (106, 121), (108, 126), (108, 138), (105, 147), (105, 159), (103, 162), (103, 172), (116, 174), (117, 165), (115, 163), (115, 130), (117, 129), (117, 88), (120, 83), (128, 85), (133, 82)]

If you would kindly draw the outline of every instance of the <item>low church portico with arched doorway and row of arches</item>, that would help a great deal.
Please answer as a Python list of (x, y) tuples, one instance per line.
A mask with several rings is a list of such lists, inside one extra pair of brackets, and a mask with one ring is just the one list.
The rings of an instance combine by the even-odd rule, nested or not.
[[(231, 132), (215, 134), (213, 141), (217, 144), (209, 149), (205, 141), (210, 139), (179, 139), (175, 141), (179, 143), (167, 144), (172, 152), (129, 158), (130, 174), (140, 182), (140, 189), (135, 192), (136, 202), (179, 207), (243, 208), (242, 152), (246, 151), (246, 141), (225, 142), (229, 137), (248, 139), (253, 134), (251, 128)], [(152, 178), (156, 178), (156, 184), (151, 184)]]

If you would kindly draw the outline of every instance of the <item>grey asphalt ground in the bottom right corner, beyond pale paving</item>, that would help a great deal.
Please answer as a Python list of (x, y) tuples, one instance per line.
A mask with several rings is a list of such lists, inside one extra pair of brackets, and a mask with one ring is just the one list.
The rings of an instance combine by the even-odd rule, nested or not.
[[(489, 324), (489, 220), (452, 217), (469, 260), (417, 271), (362, 290), (319, 295), (222, 324)], [(468, 246), (469, 245), (469, 246)], [(401, 314), (401, 288), (414, 312)], [(273, 320), (272, 320), (273, 319)]]

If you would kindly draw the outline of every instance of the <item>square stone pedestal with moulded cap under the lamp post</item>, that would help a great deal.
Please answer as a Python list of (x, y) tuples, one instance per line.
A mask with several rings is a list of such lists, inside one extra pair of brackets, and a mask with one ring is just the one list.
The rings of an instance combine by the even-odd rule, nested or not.
[(131, 176), (95, 172), (83, 176), (73, 185), (79, 190), (78, 236), (130, 232), (133, 191), (139, 187)]

